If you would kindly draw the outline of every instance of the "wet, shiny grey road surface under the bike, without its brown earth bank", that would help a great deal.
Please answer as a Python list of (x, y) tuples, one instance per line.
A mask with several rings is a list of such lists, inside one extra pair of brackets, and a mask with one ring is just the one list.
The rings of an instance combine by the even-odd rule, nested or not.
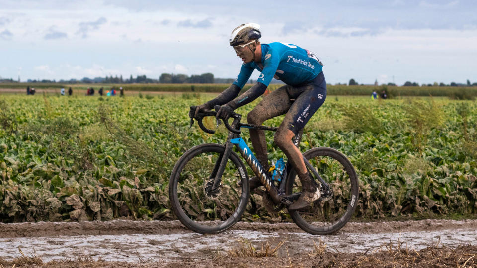
[[(456, 247), (459, 244), (477, 245), (476, 229), (449, 229), (434, 231), (355, 233), (340, 231), (336, 235), (314, 236), (298, 232), (270, 232), (234, 230), (218, 235), (196, 233), (171, 234), (118, 234), (118, 235), (60, 235), (43, 237), (0, 238), (0, 256), (15, 258), (18, 248), (26, 255), (40, 256), (43, 261), (74, 259), (88, 255), (105, 261), (138, 262), (171, 261), (183, 258), (210, 258), (218, 252), (238, 247), (243, 241), (259, 247), (270, 241), (278, 244), (285, 240), (284, 247), (290, 254), (310, 252), (314, 242), (321, 240), (326, 249), (334, 252), (373, 252), (390, 242), (402, 248), (420, 250), (428, 245)], [(242, 241), (242, 242), (240, 242)], [(285, 249), (286, 248), (286, 249)]]

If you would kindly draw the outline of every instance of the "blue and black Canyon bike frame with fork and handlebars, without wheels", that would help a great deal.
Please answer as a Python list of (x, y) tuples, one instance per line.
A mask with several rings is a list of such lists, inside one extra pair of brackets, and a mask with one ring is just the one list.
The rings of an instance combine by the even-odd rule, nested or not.
[[(215, 110), (218, 110), (218, 107), (214, 107)], [(191, 110), (195, 111), (195, 106), (191, 106)], [(202, 119), (207, 116), (215, 116), (214, 111), (204, 111), (204, 112), (199, 112), (196, 116), (197, 123), (199, 127), (206, 133), (214, 134), (215, 131), (207, 129), (204, 124), (202, 123)], [(227, 136), (227, 141), (225, 143), (225, 150), (224, 153), (220, 155), (220, 157), (217, 159), (214, 169), (209, 177), (209, 183), (207, 184), (205, 188), (205, 193), (209, 197), (215, 197), (219, 194), (220, 192), (220, 182), (222, 178), (222, 174), (225, 169), (225, 165), (227, 164), (227, 161), (229, 159), (230, 153), (232, 151), (232, 145), (235, 145), (239, 152), (241, 153), (242, 157), (245, 159), (247, 164), (251, 167), (255, 175), (259, 178), (260, 183), (265, 187), (267, 192), (270, 194), (270, 197), (272, 201), (275, 204), (284, 204), (287, 207), (290, 206), (293, 201), (296, 201), (298, 197), (300, 197), (301, 192), (298, 193), (293, 193), (290, 195), (285, 194), (285, 185), (286, 185), (286, 179), (287, 179), (287, 174), (290, 172), (292, 167), (289, 165), (289, 161), (287, 161), (285, 168), (283, 170), (283, 173), (281, 175), (281, 181), (279, 186), (275, 186), (275, 183), (273, 182), (273, 179), (270, 178), (270, 176), (267, 174), (267, 172), (263, 169), (262, 165), (258, 161), (258, 159), (255, 157), (253, 152), (250, 150), (248, 145), (245, 143), (243, 138), (240, 137), (241, 128), (247, 128), (247, 129), (257, 129), (257, 130), (266, 130), (266, 131), (277, 131), (278, 128), (276, 127), (267, 127), (267, 126), (259, 126), (259, 125), (252, 125), (252, 124), (244, 124), (240, 123), (240, 120), (242, 116), (237, 113), (232, 113), (231, 118), (234, 120), (232, 121), (232, 124), (229, 124), (228, 120), (223, 120), (225, 127), (229, 130), (229, 134)], [(194, 118), (190, 119), (190, 126), (194, 123)], [(217, 124), (219, 124), (219, 119), (217, 119)], [(301, 140), (301, 134), (297, 134), (293, 138), (293, 144), (295, 146), (299, 146), (300, 140)], [(320, 185), (317, 185), (318, 189), (320, 189), (320, 192), (323, 193), (325, 196), (332, 195), (332, 190), (330, 190), (330, 187), (328, 184), (321, 178), (321, 176), (318, 174), (316, 169), (310, 164), (308, 159), (303, 157), (303, 160), (305, 162), (305, 165), (307, 166), (307, 169), (309, 171), (309, 174), (313, 174), (313, 177), (318, 179)], [(239, 168), (239, 172), (246, 172), (242, 168)], [(243, 176), (243, 174), (242, 174)], [(212, 183), (213, 180), (213, 183)], [(313, 180), (316, 183), (316, 180)]]

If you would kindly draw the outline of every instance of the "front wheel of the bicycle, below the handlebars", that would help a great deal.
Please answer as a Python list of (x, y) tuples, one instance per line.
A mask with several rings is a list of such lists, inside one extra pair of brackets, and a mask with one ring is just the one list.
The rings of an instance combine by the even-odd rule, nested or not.
[(234, 225), (250, 196), (248, 175), (235, 152), (231, 152), (219, 191), (210, 196), (210, 176), (225, 147), (216, 143), (195, 146), (177, 161), (169, 178), (169, 199), (180, 222), (201, 234), (216, 234)]

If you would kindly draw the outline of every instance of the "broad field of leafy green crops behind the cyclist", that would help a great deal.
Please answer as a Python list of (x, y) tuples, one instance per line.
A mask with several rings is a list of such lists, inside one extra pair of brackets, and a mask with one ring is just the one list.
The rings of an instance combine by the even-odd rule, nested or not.
[[(215, 135), (189, 129), (188, 107), (208, 98), (2, 95), (0, 221), (174, 219), (167, 187), (175, 161), (226, 138), (223, 127)], [(477, 212), (476, 122), (476, 101), (328, 96), (301, 149), (329, 146), (349, 157), (360, 179), (356, 218), (469, 215)], [(269, 158), (278, 159), (267, 137)], [(272, 219), (258, 200), (243, 220), (289, 220)]]

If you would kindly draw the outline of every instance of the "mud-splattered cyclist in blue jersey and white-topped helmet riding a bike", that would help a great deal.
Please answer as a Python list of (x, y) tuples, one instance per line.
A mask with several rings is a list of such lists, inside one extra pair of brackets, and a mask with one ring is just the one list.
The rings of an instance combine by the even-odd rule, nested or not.
[[(189, 115), (195, 117), (200, 110), (210, 110), (215, 105), (221, 105), (217, 117), (227, 120), (235, 109), (261, 96), (272, 78), (283, 81), (286, 85), (266, 95), (248, 113), (247, 121), (249, 124), (261, 125), (265, 120), (286, 114), (275, 133), (274, 142), (285, 153), (302, 183), (302, 194), (289, 207), (290, 210), (300, 210), (317, 200), (320, 192), (309, 176), (302, 154), (293, 144), (292, 138), (303, 130), (326, 99), (323, 64), (314, 53), (296, 45), (278, 42), (261, 44), (259, 28), (258, 24), (246, 23), (232, 31), (229, 44), (243, 61), (239, 76), (216, 98), (197, 106), (195, 114), (191, 111)], [(255, 69), (261, 71), (257, 83), (237, 97)], [(263, 130), (250, 130), (250, 138), (258, 161), (268, 170), (267, 144)], [(258, 179), (250, 179), (251, 185), (252, 180)]]

